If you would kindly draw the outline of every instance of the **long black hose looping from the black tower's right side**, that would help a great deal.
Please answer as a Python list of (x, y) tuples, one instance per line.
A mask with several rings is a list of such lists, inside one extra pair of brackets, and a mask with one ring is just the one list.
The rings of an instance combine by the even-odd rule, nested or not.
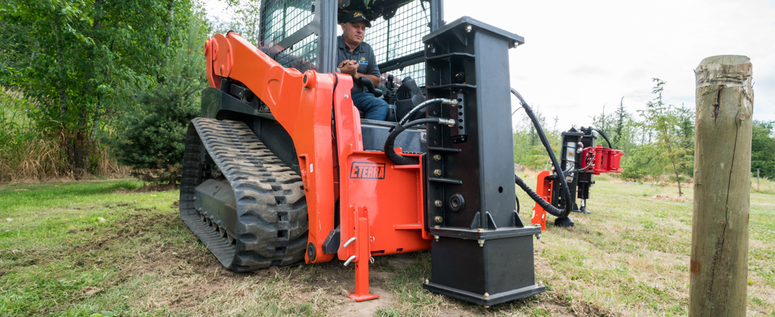
[[(560, 162), (557, 162), (557, 158), (554, 155), (554, 152), (552, 151), (552, 147), (549, 145), (549, 140), (546, 139), (546, 134), (543, 133), (543, 128), (541, 128), (541, 124), (539, 124), (538, 119), (536, 118), (536, 114), (533, 114), (532, 107), (530, 107), (525, 101), (525, 98), (522, 98), (522, 95), (517, 92), (514, 88), (512, 88), (512, 94), (514, 94), (517, 99), (519, 99), (519, 104), (522, 104), (522, 107), (525, 108), (525, 113), (528, 114), (528, 117), (530, 118), (530, 121), (532, 121), (532, 124), (534, 127), (536, 127), (536, 132), (538, 132), (538, 136), (541, 139), (541, 143), (543, 143), (543, 147), (546, 148), (546, 153), (549, 154), (549, 158), (552, 160), (552, 165), (554, 165), (554, 169), (558, 173), (562, 173), (563, 169), (560, 167)], [(536, 201), (536, 203), (539, 204), (546, 212), (551, 213), (553, 216), (557, 217), (565, 217), (570, 214), (570, 210), (573, 208), (573, 199), (570, 199), (570, 189), (568, 189), (568, 182), (565, 180), (565, 177), (558, 177), (560, 179), (560, 187), (562, 187), (563, 192), (563, 198), (565, 199), (565, 210), (560, 210), (559, 208), (552, 206), (551, 203), (546, 202), (541, 196), (536, 194), (536, 192), (533, 192), (530, 187), (525, 184), (524, 187), (522, 187), (523, 190), (525, 190), (525, 193), (528, 193), (530, 195), (530, 198)], [(515, 182), (519, 185), (519, 181), (522, 180), (516, 177), (515, 175)], [(525, 182), (522, 182), (524, 184)], [(529, 190), (529, 191), (528, 191)], [(530, 193), (533, 193), (531, 195)], [(543, 203), (542, 203), (543, 202)], [(546, 206), (544, 206), (544, 203), (546, 203)], [(552, 208), (548, 208), (547, 206), (551, 206)]]

